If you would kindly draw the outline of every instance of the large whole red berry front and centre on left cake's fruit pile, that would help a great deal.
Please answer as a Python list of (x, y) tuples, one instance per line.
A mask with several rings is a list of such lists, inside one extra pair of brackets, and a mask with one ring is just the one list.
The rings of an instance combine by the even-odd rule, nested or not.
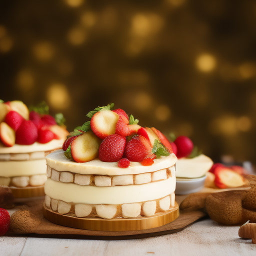
[(37, 128), (31, 120), (23, 120), (16, 130), (16, 144), (30, 145), (37, 139)]

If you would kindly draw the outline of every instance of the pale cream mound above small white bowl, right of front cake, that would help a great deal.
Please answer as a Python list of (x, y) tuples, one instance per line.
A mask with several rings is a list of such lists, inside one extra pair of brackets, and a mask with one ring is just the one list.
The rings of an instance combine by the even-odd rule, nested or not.
[(180, 158), (176, 161), (176, 177), (201, 177), (210, 169), (212, 164), (213, 161), (204, 154), (194, 158)]

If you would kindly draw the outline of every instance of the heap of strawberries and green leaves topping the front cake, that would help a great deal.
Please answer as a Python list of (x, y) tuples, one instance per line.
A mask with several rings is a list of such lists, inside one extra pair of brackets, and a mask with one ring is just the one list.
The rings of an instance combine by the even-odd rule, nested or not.
[(141, 127), (132, 114), (128, 116), (124, 110), (111, 110), (112, 107), (113, 103), (98, 106), (86, 114), (91, 118), (90, 121), (76, 127), (63, 143), (66, 158), (79, 162), (93, 159), (92, 156), (85, 156), (91, 150), (89, 141), (78, 143), (87, 133), (93, 134), (100, 141), (98, 154), (91, 155), (94, 158), (98, 155), (105, 162), (118, 161), (117, 165), (122, 168), (128, 167), (130, 161), (151, 165), (156, 157), (172, 153), (170, 142), (159, 130)]

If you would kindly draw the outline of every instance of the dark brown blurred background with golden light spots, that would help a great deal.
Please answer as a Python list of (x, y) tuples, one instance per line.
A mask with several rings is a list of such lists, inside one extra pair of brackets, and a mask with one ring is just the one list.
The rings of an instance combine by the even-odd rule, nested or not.
[(0, 0), (0, 98), (69, 130), (114, 102), (214, 161), (254, 164), (256, 1)]

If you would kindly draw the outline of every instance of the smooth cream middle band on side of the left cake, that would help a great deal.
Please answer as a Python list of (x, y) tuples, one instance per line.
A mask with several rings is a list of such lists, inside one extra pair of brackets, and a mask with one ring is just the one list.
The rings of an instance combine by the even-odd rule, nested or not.
[(46, 173), (45, 159), (28, 161), (0, 161), (0, 176), (30, 176)]

